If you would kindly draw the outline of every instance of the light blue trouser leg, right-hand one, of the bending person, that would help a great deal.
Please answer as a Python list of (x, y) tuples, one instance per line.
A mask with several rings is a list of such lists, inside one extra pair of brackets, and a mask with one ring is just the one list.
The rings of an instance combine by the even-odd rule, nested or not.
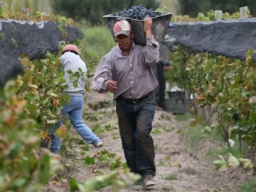
[(68, 115), (70, 116), (70, 120), (79, 135), (81, 135), (81, 137), (87, 143), (96, 145), (98, 142), (100, 142), (100, 138), (97, 137), (82, 120), (83, 102), (84, 100), (82, 96), (71, 96), (70, 106), (73, 106), (73, 108), (72, 110), (68, 111)]

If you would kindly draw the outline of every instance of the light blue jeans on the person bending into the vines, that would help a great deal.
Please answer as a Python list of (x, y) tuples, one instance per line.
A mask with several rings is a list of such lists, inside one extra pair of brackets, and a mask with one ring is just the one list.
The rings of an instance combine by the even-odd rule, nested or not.
[[(79, 135), (81, 135), (86, 142), (92, 145), (97, 145), (97, 143), (100, 142), (100, 138), (97, 137), (82, 120), (83, 102), (83, 96), (70, 96), (70, 104), (65, 104), (61, 114), (63, 115), (63, 118), (65, 118), (68, 113), (71, 123), (74, 125), (74, 128)], [(61, 124), (62, 121), (60, 121), (60, 125)], [(50, 151), (53, 153), (57, 152), (61, 145), (60, 138), (54, 134), (58, 128), (58, 126), (54, 126), (51, 130), (52, 143), (50, 146)]]

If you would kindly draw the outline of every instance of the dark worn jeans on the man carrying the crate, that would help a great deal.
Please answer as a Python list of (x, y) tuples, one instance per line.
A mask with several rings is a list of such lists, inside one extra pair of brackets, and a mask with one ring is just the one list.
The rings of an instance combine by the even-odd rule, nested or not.
[(117, 117), (124, 156), (132, 172), (156, 175), (154, 141), (150, 135), (156, 101), (154, 94), (139, 103), (117, 99)]

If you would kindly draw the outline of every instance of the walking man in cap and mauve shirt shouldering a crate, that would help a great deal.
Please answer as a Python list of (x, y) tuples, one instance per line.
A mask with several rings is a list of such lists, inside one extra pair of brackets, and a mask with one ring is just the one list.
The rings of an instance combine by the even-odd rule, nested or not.
[(158, 82), (152, 67), (159, 62), (159, 43), (151, 33), (152, 18), (144, 18), (146, 45), (133, 43), (134, 32), (128, 21), (114, 25), (117, 46), (97, 66), (92, 88), (110, 91), (117, 101), (116, 112), (125, 159), (132, 172), (140, 174), (144, 188), (154, 186), (154, 141), (151, 137)]

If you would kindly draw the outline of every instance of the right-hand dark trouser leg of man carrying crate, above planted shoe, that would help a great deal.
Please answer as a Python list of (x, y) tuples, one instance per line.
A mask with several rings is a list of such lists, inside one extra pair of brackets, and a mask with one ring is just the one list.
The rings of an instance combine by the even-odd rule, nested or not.
[(139, 174), (142, 176), (156, 175), (154, 140), (150, 135), (155, 106), (154, 96), (151, 96), (138, 103), (137, 108), (136, 162)]

